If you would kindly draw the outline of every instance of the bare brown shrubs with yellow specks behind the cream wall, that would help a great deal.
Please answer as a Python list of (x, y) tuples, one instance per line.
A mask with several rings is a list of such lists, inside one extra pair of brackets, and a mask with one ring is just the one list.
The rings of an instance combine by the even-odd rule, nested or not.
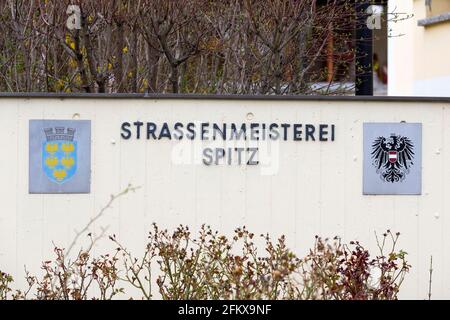
[(354, 77), (353, 16), (352, 1), (5, 0), (0, 91), (336, 94)]

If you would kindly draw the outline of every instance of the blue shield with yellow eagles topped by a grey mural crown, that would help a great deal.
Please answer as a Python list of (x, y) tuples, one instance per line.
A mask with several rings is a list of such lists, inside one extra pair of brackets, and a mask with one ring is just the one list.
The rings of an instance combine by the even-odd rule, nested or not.
[[(59, 131), (59, 132), (58, 132)], [(63, 184), (77, 171), (77, 142), (73, 129), (46, 129), (47, 141), (42, 144), (42, 165), (46, 176)]]

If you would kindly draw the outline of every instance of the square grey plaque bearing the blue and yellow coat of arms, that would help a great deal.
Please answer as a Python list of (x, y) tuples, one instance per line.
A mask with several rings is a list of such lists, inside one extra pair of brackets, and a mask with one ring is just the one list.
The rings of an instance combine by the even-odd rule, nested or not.
[(29, 193), (90, 193), (91, 121), (29, 121)]

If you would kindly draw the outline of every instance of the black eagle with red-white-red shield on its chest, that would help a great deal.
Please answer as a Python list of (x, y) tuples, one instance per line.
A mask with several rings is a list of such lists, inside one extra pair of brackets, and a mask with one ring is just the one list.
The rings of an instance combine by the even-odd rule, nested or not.
[(391, 134), (378, 137), (372, 144), (372, 164), (385, 182), (399, 182), (406, 178), (414, 159), (413, 142), (404, 136)]

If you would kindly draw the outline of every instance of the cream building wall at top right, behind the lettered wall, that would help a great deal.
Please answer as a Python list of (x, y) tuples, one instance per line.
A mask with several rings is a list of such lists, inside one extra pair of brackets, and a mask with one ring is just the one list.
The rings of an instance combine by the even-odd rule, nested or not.
[[(446, 8), (432, 3), (434, 9)], [(389, 8), (391, 19), (395, 12), (414, 14), (390, 22), (389, 95), (450, 96), (450, 21), (419, 26), (418, 21), (427, 17), (425, 0), (390, 0)]]

